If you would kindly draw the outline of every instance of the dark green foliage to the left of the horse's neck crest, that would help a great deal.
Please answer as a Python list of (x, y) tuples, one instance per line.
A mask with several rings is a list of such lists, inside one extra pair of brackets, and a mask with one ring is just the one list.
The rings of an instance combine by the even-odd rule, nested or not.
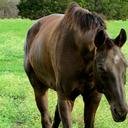
[(17, 5), (22, 18), (39, 19), (53, 13), (64, 13), (69, 0), (21, 0)]

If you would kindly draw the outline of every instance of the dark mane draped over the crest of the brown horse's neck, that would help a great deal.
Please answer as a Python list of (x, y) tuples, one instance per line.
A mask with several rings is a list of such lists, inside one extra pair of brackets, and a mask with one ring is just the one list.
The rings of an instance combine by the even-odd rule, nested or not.
[(91, 14), (91, 12), (83, 9), (75, 2), (68, 7), (62, 23), (70, 27), (70, 29), (76, 30), (80, 28), (83, 33), (90, 29), (100, 31), (107, 28), (102, 18), (98, 15)]

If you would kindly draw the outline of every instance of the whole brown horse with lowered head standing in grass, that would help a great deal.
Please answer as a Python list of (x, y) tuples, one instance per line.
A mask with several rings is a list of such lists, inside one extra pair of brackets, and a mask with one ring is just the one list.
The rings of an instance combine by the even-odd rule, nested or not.
[[(105, 31), (105, 22), (97, 15), (72, 3), (65, 15), (39, 19), (29, 29), (25, 41), (24, 69), (34, 88), (43, 128), (72, 128), (74, 100), (83, 96), (86, 128), (94, 127), (94, 118), (102, 93), (113, 119), (124, 121), (128, 105), (124, 85), (128, 63), (121, 52), (126, 32), (115, 39)], [(54, 122), (48, 109), (48, 88), (57, 91)]]

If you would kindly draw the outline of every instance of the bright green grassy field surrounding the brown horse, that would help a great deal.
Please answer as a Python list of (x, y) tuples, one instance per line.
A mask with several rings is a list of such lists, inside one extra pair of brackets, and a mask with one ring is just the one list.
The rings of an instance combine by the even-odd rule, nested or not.
[[(41, 128), (33, 89), (23, 69), (23, 45), (30, 20), (0, 20), (0, 128)], [(128, 21), (107, 21), (108, 33), (115, 38), (121, 28), (128, 33)], [(128, 41), (122, 48), (128, 60)], [(125, 86), (128, 102), (128, 73)], [(49, 90), (49, 108), (53, 118), (56, 92)], [(78, 97), (72, 113), (73, 128), (83, 128), (83, 101)], [(62, 128), (62, 125), (60, 125)], [(103, 96), (95, 118), (95, 128), (128, 128), (128, 117), (122, 123), (112, 119)]]

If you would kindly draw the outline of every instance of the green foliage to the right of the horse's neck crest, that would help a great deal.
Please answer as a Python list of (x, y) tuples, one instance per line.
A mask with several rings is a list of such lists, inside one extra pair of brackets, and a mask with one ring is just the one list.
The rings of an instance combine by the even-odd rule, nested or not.
[(85, 0), (86, 8), (102, 14), (108, 20), (126, 20), (128, 18), (128, 0)]

